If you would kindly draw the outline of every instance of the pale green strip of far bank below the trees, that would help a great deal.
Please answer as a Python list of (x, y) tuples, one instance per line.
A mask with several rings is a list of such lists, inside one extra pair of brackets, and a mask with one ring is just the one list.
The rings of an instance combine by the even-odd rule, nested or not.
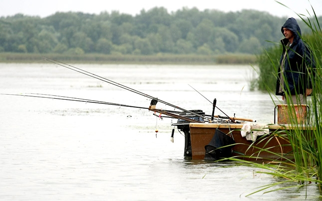
[(177, 64), (177, 65), (214, 65), (214, 64), (255, 64), (256, 55), (223, 54), (223, 55), (119, 55), (119, 54), (37, 54), (37, 53), (0, 53), (0, 63), (44, 63), (43, 57), (71, 63), (98, 64)]

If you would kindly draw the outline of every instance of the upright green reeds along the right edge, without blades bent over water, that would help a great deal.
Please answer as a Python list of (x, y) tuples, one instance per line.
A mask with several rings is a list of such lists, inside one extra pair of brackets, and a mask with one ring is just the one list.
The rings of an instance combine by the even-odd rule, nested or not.
[[(322, 71), (321, 71), (321, 27), (318, 18), (315, 21), (310, 18), (303, 18), (298, 15), (312, 30), (312, 34), (305, 40), (307, 46), (311, 49), (312, 60), (315, 60), (315, 67), (307, 66), (307, 73), (312, 80), (314, 93), (311, 101), (308, 103), (310, 112), (304, 122), (299, 122), (296, 117), (296, 110), (292, 103), (287, 101), (290, 113), (290, 124), (294, 129), (287, 131), (290, 143), (293, 147), (295, 156), (295, 165), (298, 175), (310, 180), (312, 176), (318, 178), (318, 184), (322, 184), (322, 129), (321, 129), (321, 104), (322, 104)], [(302, 36), (301, 36), (302, 37)], [(303, 64), (305, 65), (305, 64)], [(286, 86), (288, 86), (286, 84)], [(287, 87), (286, 91), (290, 91)], [(303, 181), (300, 181), (303, 183)]]

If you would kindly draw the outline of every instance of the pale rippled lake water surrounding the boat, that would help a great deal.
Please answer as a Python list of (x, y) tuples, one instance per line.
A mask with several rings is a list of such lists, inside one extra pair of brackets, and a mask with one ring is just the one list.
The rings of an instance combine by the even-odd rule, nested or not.
[[(249, 90), (247, 65), (71, 65), (184, 109), (211, 114), (208, 100), (216, 98), (229, 116), (274, 121), (271, 97)], [(52, 63), (1, 63), (0, 93), (150, 105), (146, 97)], [(184, 136), (176, 130), (170, 141), (176, 120), (146, 109), (0, 97), (1, 201), (319, 200), (315, 185), (246, 197), (278, 179), (229, 162), (184, 160)], [(223, 114), (216, 109), (215, 115)]]

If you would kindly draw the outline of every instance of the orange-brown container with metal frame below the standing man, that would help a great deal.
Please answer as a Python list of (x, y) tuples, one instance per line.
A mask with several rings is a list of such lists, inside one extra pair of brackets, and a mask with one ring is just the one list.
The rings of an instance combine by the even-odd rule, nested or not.
[[(294, 108), (289, 108), (294, 107)], [(309, 106), (307, 105), (276, 105), (274, 110), (274, 124), (276, 123), (276, 109), (277, 109), (277, 123), (278, 124), (305, 124)], [(292, 114), (290, 114), (292, 112)], [(295, 114), (294, 114), (295, 112)]]

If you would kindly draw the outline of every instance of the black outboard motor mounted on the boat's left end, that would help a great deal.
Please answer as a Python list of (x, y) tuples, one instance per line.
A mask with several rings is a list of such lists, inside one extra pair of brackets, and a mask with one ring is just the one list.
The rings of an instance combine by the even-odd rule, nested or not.
[[(201, 116), (205, 116), (205, 113), (202, 110), (189, 110), (193, 113), (196, 113)], [(180, 116), (189, 118), (189, 119), (194, 119), (200, 122), (205, 122), (204, 118), (196, 116), (194, 114), (191, 114), (189, 112), (181, 112), (179, 114)], [(185, 135), (185, 150), (184, 150), (184, 159), (186, 160), (191, 160), (192, 159), (192, 153), (191, 153), (191, 138), (190, 138), (190, 128), (189, 128), (189, 123), (186, 120), (183, 119), (178, 119), (178, 122), (174, 125), (177, 126), (178, 129), (180, 129), (184, 135)]]

